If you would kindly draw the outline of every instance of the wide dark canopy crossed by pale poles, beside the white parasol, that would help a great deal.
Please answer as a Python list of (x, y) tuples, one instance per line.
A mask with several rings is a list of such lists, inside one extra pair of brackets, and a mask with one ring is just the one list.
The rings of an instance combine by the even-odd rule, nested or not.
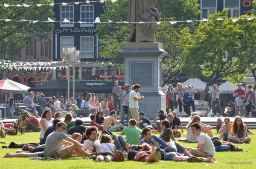
[[(61, 79), (60, 82), (58, 80), (45, 83), (40, 86), (32, 87), (29, 89), (29, 91), (34, 91), (34, 92), (57, 92), (59, 90), (59, 83), (60, 83), (60, 89), (61, 92), (67, 92), (67, 80)], [(77, 84), (75, 82), (75, 91), (76, 92), (81, 92), (81, 91), (86, 91), (89, 90), (89, 87), (85, 87), (83, 85)], [(70, 82), (70, 91), (73, 90), (73, 82)]]

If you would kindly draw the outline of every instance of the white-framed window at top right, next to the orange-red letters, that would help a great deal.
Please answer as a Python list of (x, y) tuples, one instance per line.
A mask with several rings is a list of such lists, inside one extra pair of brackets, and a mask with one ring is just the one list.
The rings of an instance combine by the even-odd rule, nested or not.
[(224, 0), (224, 8), (228, 8), (228, 17), (240, 16), (240, 0)]

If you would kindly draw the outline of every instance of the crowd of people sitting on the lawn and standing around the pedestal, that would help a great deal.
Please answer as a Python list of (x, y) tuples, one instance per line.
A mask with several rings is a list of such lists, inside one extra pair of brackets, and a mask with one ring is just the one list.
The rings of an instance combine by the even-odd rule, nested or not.
[[(18, 151), (15, 154), (7, 153), (4, 158), (67, 158), (83, 156), (84, 158), (93, 158), (95, 162), (111, 162), (114, 160), (116, 149), (118, 149), (123, 152), (123, 155), (128, 160), (133, 161), (157, 162), (159, 160), (166, 160), (217, 163), (214, 158), (216, 147), (219, 150), (219, 146), (228, 145), (230, 149), (236, 149), (233, 151), (240, 151), (241, 148), (226, 141), (235, 143), (248, 143), (251, 141), (251, 138), (247, 135), (247, 127), (238, 114), (233, 124), (230, 123), (229, 117), (224, 119), (225, 124), (222, 124), (221, 118), (219, 118), (216, 128), (220, 135), (219, 137), (213, 137), (212, 127), (202, 123), (200, 116), (195, 112), (193, 98), (195, 89), (192, 85), (186, 86), (183, 89), (182, 85), (178, 83), (175, 91), (178, 93), (178, 101), (179, 104), (181, 103), (180, 107), (182, 102), (185, 101), (186, 104), (185, 106), (183, 104), (183, 108), (186, 107), (186, 114), (191, 117), (191, 121), (186, 126), (188, 132), (186, 136), (187, 141), (198, 143), (198, 148), (184, 147), (175, 139), (180, 137), (179, 127), (184, 132), (180, 118), (177, 117), (175, 111), (166, 115), (164, 110), (161, 109), (151, 123), (145, 117), (145, 113), (138, 110), (139, 101), (144, 99), (144, 96), (140, 96), (139, 93), (140, 85), (131, 86), (131, 90), (128, 84), (120, 88), (118, 82), (115, 82), (115, 85), (111, 98), (111, 101), (114, 100), (114, 110), (107, 108), (108, 99), (99, 102), (93, 93), (88, 93), (85, 99), (80, 96), (75, 99), (71, 97), (70, 101), (63, 97), (56, 101), (56, 97), (52, 97), (48, 103), (46, 101), (39, 101), (39, 99), (44, 98), (43, 94), (41, 94), (39, 99), (35, 100), (39, 93), (29, 93), (24, 99), (24, 104), (26, 103), (27, 107), (31, 109), (32, 115), (28, 119), (29, 125), (26, 130), (40, 132), (38, 142), (40, 141), (41, 148), (33, 148), (26, 144), (22, 147), (22, 151)], [(217, 101), (219, 100), (217, 97), (219, 88), (217, 85), (212, 87), (216, 98), (215, 104), (218, 107), (219, 103)], [(248, 87), (250, 88), (250, 86)], [(173, 101), (174, 89), (172, 85), (169, 85), (167, 89), (166, 97), (170, 101), (170, 106), (173, 107), (171, 102)], [(237, 93), (234, 94), (234, 96), (239, 98), (244, 97), (242, 99), (246, 100), (244, 102), (246, 104), (251, 103), (250, 97), (252, 95), (252, 92), (239, 95)], [(119, 103), (115, 103), (115, 100), (120, 102), (122, 107), (118, 107)], [(40, 102), (44, 103), (44, 107), (40, 105)], [(190, 106), (193, 113), (190, 113)], [(93, 113), (90, 115), (90, 127), (84, 127), (81, 119), (74, 121), (72, 118), (72, 111), (83, 107), (93, 110)], [(42, 110), (40, 118), (38, 118), (38, 108)], [(70, 113), (66, 113), (64, 120), (61, 121), (62, 111), (64, 110), (69, 110)], [(105, 118), (103, 117), (103, 111), (108, 112)], [(251, 115), (249, 108), (247, 111)], [(119, 118), (117, 112), (120, 112)], [(125, 115), (128, 121), (126, 126), (124, 124)], [(15, 127), (15, 124), (12, 127)], [(5, 126), (1, 123), (1, 132), (5, 132), (3, 129), (5, 129)], [(160, 133), (159, 137), (151, 133), (153, 130)], [(100, 136), (99, 131), (102, 132)], [(116, 135), (113, 132), (120, 132), (120, 134)], [(224, 141), (221, 141), (221, 139)], [(36, 149), (38, 149), (37, 152), (35, 152)]]

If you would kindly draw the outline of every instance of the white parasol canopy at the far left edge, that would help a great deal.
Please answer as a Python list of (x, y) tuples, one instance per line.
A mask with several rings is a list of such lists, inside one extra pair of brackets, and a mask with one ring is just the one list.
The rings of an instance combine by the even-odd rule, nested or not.
[(0, 93), (25, 94), (28, 93), (29, 88), (10, 79), (0, 80)]

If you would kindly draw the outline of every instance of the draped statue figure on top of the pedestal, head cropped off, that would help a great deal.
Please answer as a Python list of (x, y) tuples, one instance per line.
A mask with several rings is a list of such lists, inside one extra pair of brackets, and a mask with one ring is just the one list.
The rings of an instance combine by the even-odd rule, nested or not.
[[(146, 22), (135, 25), (130, 23), (131, 34), (126, 42), (154, 42), (156, 23), (160, 13), (155, 8), (158, 0), (128, 0), (127, 22)], [(136, 35), (136, 28), (140, 28), (142, 33)], [(152, 36), (153, 35), (153, 36)], [(136, 38), (137, 37), (137, 38)]]

